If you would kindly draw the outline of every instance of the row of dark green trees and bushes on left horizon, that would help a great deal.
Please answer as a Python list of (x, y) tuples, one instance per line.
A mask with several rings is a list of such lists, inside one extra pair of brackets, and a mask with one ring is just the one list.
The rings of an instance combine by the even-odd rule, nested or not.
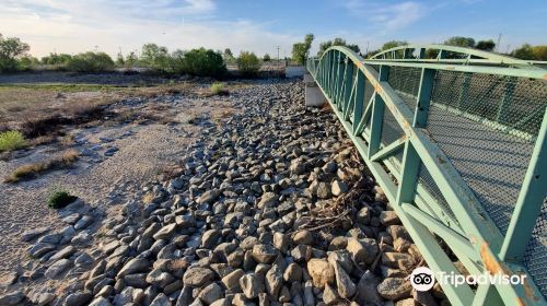
[(269, 55), (261, 59), (254, 52), (241, 51), (235, 57), (226, 48), (223, 52), (206, 48), (190, 50), (176, 49), (156, 44), (144, 44), (140, 55), (131, 51), (124, 56), (118, 52), (114, 60), (103, 51), (86, 51), (78, 55), (49, 54), (40, 59), (32, 57), (28, 44), (16, 37), (0, 34), (0, 72), (16, 72), (37, 68), (71, 72), (105, 72), (115, 68), (147, 68), (162, 74), (191, 74), (197, 76), (221, 78), (226, 74), (226, 63), (236, 64), (243, 76), (254, 76)]

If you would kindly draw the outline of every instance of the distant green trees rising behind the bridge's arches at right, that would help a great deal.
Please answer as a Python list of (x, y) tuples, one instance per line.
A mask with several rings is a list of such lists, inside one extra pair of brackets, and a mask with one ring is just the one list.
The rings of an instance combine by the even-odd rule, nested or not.
[[(314, 35), (307, 34), (304, 37), (304, 42), (295, 43), (292, 46), (292, 60), (295, 61), (296, 63), (304, 64), (305, 60), (310, 57), (310, 49), (312, 47), (313, 40), (314, 40)], [(449, 39), (444, 40), (443, 44), (457, 47), (475, 48), (485, 51), (493, 51), (496, 49), (496, 43), (492, 39), (476, 42), (473, 37), (464, 37), (464, 36), (450, 37)], [(319, 50), (317, 51), (316, 56), (321, 57), (328, 48), (333, 46), (344, 46), (353, 50), (356, 54), (359, 54), (364, 58), (371, 58), (381, 51), (406, 45), (409, 44), (405, 40), (391, 40), (382, 45), (380, 49), (369, 50), (363, 54), (361, 52), (361, 49), (359, 48), (358, 45), (348, 44), (345, 39), (337, 37), (334, 38), (333, 40), (321, 43)], [(428, 50), (426, 54), (426, 58), (434, 58), (437, 57), (437, 54), (438, 51), (435, 50)], [(547, 46), (544, 45), (532, 46), (529, 44), (524, 44), (507, 55), (524, 60), (547, 60)]]

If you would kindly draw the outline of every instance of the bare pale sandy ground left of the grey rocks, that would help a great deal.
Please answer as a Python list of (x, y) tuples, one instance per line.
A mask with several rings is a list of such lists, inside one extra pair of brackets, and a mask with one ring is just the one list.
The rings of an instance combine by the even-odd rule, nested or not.
[[(21, 242), (21, 233), (40, 226), (61, 226), (55, 212), (47, 208), (51, 190), (69, 190), (106, 213), (113, 204), (123, 203), (125, 195), (135, 193), (140, 184), (153, 180), (191, 148), (203, 128), (195, 121), (220, 123), (236, 111), (231, 108), (230, 97), (167, 95), (129, 107), (143, 107), (148, 103), (167, 105), (164, 111), (170, 113), (174, 122), (74, 129), (70, 131), (75, 140), (71, 148), (40, 145), (18, 158), (0, 161), (0, 178), (3, 178), (22, 164), (44, 161), (67, 150), (82, 153), (74, 168), (50, 172), (28, 181), (0, 184), (0, 272), (16, 268), (21, 258), (27, 256), (28, 244)], [(105, 156), (110, 148), (118, 151)]]

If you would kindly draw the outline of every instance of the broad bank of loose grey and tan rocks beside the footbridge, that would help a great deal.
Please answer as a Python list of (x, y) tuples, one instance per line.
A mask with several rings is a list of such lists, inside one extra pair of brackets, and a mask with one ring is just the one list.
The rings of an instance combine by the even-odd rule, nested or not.
[(66, 215), (63, 233), (28, 233), (44, 263), (30, 278), (67, 285), (0, 304), (446, 303), (439, 287), (412, 291), (422, 258), (331, 110), (305, 109), (299, 81), (232, 98), (244, 114), (206, 128), (184, 173), (104, 219), (93, 247), (78, 248), (94, 220), (81, 212)]

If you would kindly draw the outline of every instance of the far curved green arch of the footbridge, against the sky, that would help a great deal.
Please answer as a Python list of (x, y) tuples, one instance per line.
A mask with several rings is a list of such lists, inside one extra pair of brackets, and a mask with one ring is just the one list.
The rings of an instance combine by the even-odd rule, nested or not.
[[(424, 59), (424, 51), (421, 50), (439, 50), (437, 59)], [(411, 52), (407, 50), (420, 50), (418, 57), (411, 57)], [(400, 52), (401, 51), (401, 52)], [(458, 55), (464, 55), (465, 58), (462, 59), (445, 59), (443, 58), (443, 52), (453, 52)], [(445, 54), (444, 54), (445, 55)], [(399, 56), (400, 58), (396, 58)], [(405, 45), (399, 47), (394, 47), (384, 51), (381, 51), (372, 56), (368, 60), (422, 60), (422, 61), (452, 61), (461, 63), (482, 63), (482, 64), (508, 64), (515, 67), (534, 67), (534, 61), (521, 60), (513, 57), (499, 55), (494, 52), (484, 51), (474, 48), (449, 46), (449, 45)]]

